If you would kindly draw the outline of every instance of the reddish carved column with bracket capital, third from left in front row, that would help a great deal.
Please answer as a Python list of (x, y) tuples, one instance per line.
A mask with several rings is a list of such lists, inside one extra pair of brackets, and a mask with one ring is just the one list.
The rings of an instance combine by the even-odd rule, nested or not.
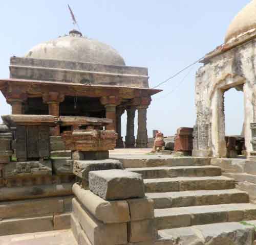
[(115, 95), (101, 97), (100, 102), (105, 106), (106, 118), (112, 119), (112, 124), (106, 126), (106, 130), (116, 130), (116, 107), (120, 104), (119, 98)]

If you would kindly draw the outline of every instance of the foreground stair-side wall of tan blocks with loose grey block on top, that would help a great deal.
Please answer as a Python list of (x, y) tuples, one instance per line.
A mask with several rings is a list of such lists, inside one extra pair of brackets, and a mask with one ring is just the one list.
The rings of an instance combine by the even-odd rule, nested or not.
[[(113, 177), (117, 171), (118, 179)], [(91, 171), (89, 175), (100, 176), (100, 183), (89, 178), (91, 190), (84, 190), (78, 184), (73, 186), (75, 198), (72, 202), (71, 229), (78, 244), (153, 244), (154, 205), (152, 200), (143, 198), (143, 182), (142, 189), (141, 182), (138, 182), (142, 180), (141, 176), (126, 170)], [(111, 200), (106, 195), (104, 200), (93, 193), (99, 188), (111, 191), (117, 183), (120, 184), (120, 190), (112, 192)], [(134, 199), (139, 196), (142, 198)]]

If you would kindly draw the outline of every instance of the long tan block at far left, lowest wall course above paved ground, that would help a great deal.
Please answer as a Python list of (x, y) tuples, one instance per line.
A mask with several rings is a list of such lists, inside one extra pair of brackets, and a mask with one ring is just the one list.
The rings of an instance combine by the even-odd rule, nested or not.
[(15, 218), (0, 221), (0, 236), (53, 230), (53, 216)]

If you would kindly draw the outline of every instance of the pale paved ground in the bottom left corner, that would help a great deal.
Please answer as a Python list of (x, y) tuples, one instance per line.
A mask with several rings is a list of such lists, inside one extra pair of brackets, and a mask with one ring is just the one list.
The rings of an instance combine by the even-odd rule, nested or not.
[(1, 245), (77, 245), (70, 229), (0, 237)]

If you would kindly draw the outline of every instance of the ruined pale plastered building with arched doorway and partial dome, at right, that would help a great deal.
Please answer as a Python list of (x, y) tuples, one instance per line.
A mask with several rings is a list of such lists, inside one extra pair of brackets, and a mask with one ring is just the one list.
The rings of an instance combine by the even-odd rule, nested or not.
[(256, 120), (255, 42), (256, 1), (251, 1), (231, 22), (225, 43), (207, 54), (196, 77), (197, 121), (194, 156), (226, 157), (224, 93), (244, 92), (244, 136), (252, 151), (250, 123)]

